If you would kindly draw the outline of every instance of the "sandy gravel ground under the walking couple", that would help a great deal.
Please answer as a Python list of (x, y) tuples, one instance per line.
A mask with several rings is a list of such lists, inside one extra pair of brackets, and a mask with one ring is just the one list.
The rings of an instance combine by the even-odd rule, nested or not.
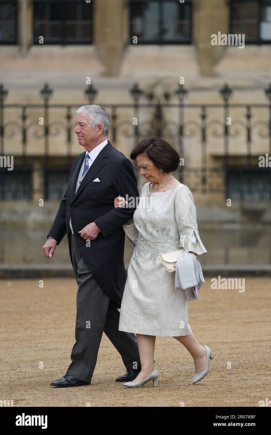
[[(76, 282), (71, 278), (0, 281), (1, 400), (14, 406), (259, 406), (271, 399), (271, 278), (245, 278), (245, 291), (211, 290), (205, 277), (189, 324), (214, 354), (210, 372), (192, 385), (193, 359), (174, 338), (158, 337), (158, 387), (125, 388), (125, 368), (104, 335), (91, 385), (53, 388), (74, 345)], [(231, 364), (231, 368), (227, 368)]]

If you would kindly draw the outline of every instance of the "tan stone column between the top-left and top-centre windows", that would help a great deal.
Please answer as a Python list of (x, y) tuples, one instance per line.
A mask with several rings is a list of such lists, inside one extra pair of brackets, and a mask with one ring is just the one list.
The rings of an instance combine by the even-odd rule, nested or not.
[(129, 3), (126, 0), (99, 0), (94, 3), (94, 44), (104, 63), (104, 76), (119, 73), (124, 45), (128, 40)]

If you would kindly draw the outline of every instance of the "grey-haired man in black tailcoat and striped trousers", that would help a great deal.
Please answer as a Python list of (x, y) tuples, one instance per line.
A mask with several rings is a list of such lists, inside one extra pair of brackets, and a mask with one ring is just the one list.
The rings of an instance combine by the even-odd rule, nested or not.
[[(67, 232), (70, 259), (78, 284), (76, 343), (67, 373), (54, 387), (90, 384), (104, 333), (120, 353), (127, 369), (116, 381), (131, 381), (139, 373), (140, 357), (134, 334), (119, 331), (124, 291), (124, 230), (132, 207), (114, 208), (117, 195), (138, 197), (131, 162), (107, 141), (110, 117), (96, 104), (77, 110), (75, 133), (85, 148), (74, 161), (67, 191), (43, 245), (47, 257)], [(108, 361), (110, 364), (110, 361)]]

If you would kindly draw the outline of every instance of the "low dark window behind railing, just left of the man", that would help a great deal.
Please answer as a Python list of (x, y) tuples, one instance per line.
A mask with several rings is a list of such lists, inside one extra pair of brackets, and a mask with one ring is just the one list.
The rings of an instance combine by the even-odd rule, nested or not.
[(67, 190), (70, 167), (50, 168), (45, 172), (45, 198), (62, 199)]

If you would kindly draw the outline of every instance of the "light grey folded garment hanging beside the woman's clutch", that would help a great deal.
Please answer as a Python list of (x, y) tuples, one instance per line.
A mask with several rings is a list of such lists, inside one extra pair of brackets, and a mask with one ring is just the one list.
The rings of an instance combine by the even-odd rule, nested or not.
[(204, 284), (201, 263), (189, 251), (177, 257), (175, 272), (175, 289), (185, 290), (187, 301), (195, 301), (197, 292)]

